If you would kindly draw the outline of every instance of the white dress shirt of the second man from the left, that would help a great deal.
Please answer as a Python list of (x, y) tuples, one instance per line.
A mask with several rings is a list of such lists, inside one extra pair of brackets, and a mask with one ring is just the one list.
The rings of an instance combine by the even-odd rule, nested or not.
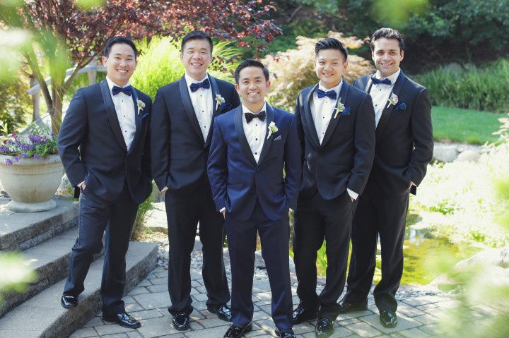
[(209, 78), (207, 74), (201, 80), (194, 80), (191, 76), (188, 76), (185, 73), (185, 80), (187, 83), (187, 92), (189, 92), (189, 97), (191, 97), (191, 102), (194, 108), (194, 114), (196, 114), (198, 123), (201, 129), (201, 134), (204, 136), (204, 140), (206, 140), (209, 135), (209, 131), (211, 130), (211, 121), (212, 121), (212, 88), (199, 88), (195, 92), (191, 91), (191, 87), (189, 87), (192, 83), (200, 83), (205, 79)]

